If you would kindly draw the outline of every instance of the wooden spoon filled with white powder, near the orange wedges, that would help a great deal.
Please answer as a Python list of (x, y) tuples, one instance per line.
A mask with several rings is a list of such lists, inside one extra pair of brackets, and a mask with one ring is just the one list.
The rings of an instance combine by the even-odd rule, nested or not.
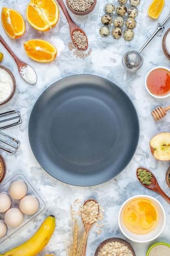
[[(2, 36), (0, 35), (0, 42), (2, 43), (2, 45), (4, 45), (4, 47), (7, 49), (7, 51), (11, 54), (11, 56), (14, 58), (17, 67), (18, 67), (18, 71), (20, 73), (20, 75), (22, 76), (22, 78), (27, 82), (27, 83), (31, 83), (31, 84), (35, 84), (37, 82), (37, 75), (35, 73), (35, 71), (33, 70), (32, 67), (30, 67), (27, 63), (25, 63), (24, 61), (21, 61), (16, 55), (15, 53), (12, 51), (12, 49), (9, 47), (9, 45), (7, 45), (7, 43), (5, 42), (4, 38), (2, 38)], [(32, 78), (29, 79), (28, 75), (24, 73), (25, 71), (29, 71), (31, 73)]]

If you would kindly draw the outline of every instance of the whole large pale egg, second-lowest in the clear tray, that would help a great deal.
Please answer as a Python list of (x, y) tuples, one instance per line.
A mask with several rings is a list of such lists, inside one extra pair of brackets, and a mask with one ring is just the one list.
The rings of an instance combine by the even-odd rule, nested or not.
[(10, 227), (18, 227), (23, 220), (24, 215), (18, 208), (10, 208), (4, 215), (4, 222)]

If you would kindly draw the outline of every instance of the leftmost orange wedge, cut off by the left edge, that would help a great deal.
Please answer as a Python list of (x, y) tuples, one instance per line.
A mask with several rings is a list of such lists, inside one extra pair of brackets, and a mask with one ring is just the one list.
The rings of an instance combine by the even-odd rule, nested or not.
[(24, 34), (25, 21), (18, 11), (2, 7), (1, 21), (5, 32), (10, 38), (16, 39)]

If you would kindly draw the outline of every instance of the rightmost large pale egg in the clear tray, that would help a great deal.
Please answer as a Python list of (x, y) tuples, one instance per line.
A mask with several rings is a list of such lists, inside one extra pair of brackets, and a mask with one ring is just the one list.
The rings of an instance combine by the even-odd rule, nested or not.
[(33, 195), (26, 195), (20, 201), (20, 210), (27, 215), (36, 213), (38, 208), (39, 200)]

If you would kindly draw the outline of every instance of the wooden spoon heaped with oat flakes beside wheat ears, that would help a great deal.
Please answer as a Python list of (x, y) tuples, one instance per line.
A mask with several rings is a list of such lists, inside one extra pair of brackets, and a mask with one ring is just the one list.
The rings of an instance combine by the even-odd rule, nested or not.
[(81, 256), (85, 256), (89, 230), (94, 225), (94, 223), (98, 221), (98, 214), (99, 214), (98, 202), (94, 199), (88, 199), (87, 201), (85, 201), (81, 211), (81, 218), (85, 226), (86, 240), (84, 243)]

